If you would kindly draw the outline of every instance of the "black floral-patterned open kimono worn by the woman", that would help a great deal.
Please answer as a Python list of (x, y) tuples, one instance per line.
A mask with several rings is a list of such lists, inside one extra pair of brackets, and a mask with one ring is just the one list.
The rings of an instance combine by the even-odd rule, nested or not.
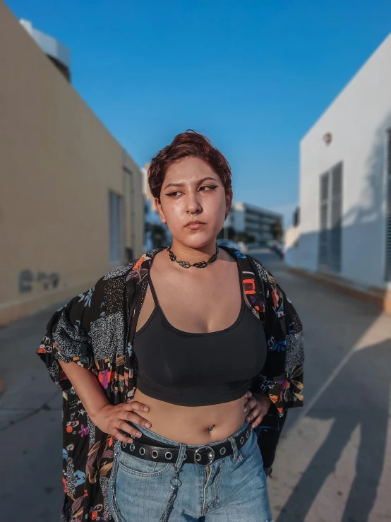
[[(110, 403), (133, 398), (138, 370), (133, 336), (148, 287), (150, 263), (161, 250), (109, 272), (95, 287), (59, 309), (50, 319), (37, 352), (64, 397), (63, 522), (112, 521), (107, 489), (114, 441), (90, 420), (59, 360), (76, 362), (95, 374)], [(267, 471), (287, 408), (301, 406), (303, 401), (301, 322), (275, 279), (258, 261), (239, 251), (226, 251), (239, 265), (243, 289), (252, 311), (259, 314), (267, 339), (265, 366), (251, 386), (253, 393), (266, 393), (272, 401), (269, 413), (255, 429)]]

